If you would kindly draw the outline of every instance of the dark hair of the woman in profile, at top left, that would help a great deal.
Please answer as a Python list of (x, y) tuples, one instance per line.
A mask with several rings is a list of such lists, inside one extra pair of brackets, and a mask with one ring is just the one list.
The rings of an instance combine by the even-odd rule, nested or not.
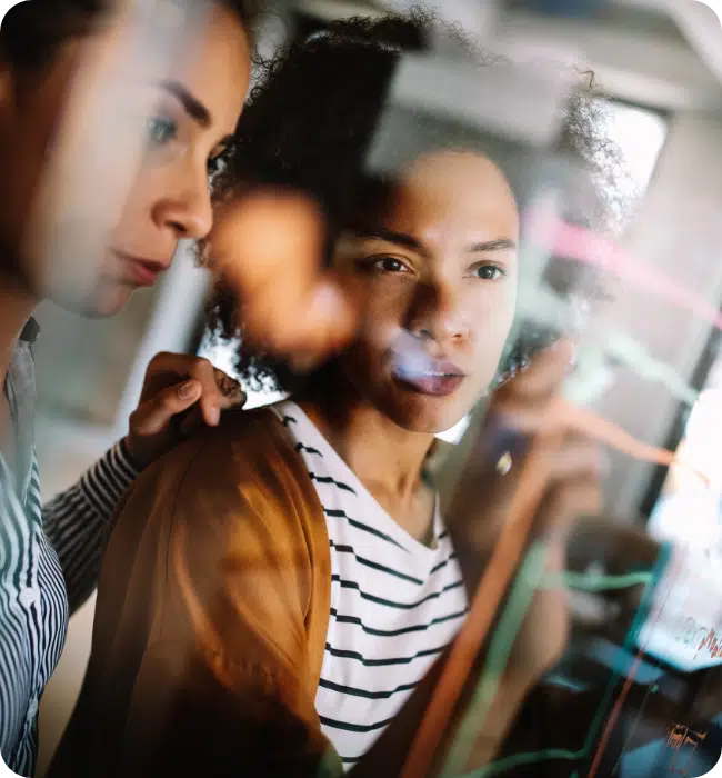
[[(213, 0), (235, 13), (251, 40), (261, 0)], [(4, 0), (0, 8), (0, 58), (34, 70), (50, 63), (69, 38), (92, 32), (110, 0)]]

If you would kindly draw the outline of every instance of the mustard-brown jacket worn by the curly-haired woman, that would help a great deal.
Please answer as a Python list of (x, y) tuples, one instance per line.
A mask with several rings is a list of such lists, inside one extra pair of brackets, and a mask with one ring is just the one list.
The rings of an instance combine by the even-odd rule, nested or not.
[(321, 503), (271, 412), (150, 467), (109, 540), (51, 778), (341, 775), (314, 709), (330, 568)]

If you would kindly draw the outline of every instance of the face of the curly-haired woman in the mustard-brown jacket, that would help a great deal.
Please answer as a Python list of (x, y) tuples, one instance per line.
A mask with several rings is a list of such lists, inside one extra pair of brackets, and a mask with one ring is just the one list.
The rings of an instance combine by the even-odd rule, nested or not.
[(361, 397), (400, 427), (440, 432), (492, 380), (517, 298), (519, 215), (484, 157), (419, 159), (335, 265), (360, 289), (362, 322), (342, 357)]

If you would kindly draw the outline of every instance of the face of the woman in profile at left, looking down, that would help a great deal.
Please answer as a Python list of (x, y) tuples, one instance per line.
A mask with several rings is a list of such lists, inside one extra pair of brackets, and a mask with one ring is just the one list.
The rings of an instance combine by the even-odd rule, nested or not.
[[(102, 56), (100, 37), (72, 41), (46, 72), (2, 73), (0, 250), (1, 261), (12, 262), (21, 288), (30, 296), (107, 316), (118, 311), (134, 289), (152, 286), (170, 267), (180, 239), (202, 238), (210, 230), (209, 172), (238, 122), (250, 78), (250, 49), (237, 17), (210, 4), (182, 63), (170, 76), (149, 78), (132, 88), (138, 104), (118, 106), (118, 120), (137, 116), (142, 106), (146, 148), (114, 228), (106, 236), (106, 250), (89, 257), (80, 249), (72, 259), (51, 259), (56, 265), (49, 268), (48, 260), (33, 256), (38, 251), (23, 250), (23, 229), (60, 124), (80, 46), (89, 42)], [(102, 143), (102, 138), (94, 140)], [(101, 201), (102, 177), (96, 183)], [(68, 210), (61, 203), (57, 211), (59, 233), (73, 241), (92, 226), (92, 215)], [(82, 247), (82, 240), (78, 243)], [(63, 261), (67, 267), (59, 267)]]

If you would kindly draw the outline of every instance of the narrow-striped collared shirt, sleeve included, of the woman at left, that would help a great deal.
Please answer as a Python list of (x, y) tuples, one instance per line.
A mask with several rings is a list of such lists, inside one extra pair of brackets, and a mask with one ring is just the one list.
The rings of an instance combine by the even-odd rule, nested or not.
[(26, 327), (4, 385), (17, 438), (13, 472), (0, 456), (0, 765), (22, 778), (34, 770), (38, 704), (69, 615), (96, 588), (108, 519), (138, 475), (119, 443), (41, 508), (32, 441), (36, 327)]

